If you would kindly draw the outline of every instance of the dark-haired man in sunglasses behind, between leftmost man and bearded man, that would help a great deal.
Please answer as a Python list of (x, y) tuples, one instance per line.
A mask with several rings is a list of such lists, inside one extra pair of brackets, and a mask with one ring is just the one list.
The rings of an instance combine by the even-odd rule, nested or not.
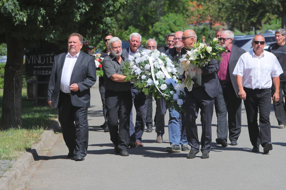
[[(104, 44), (105, 44), (105, 49), (100, 52), (101, 57), (104, 58), (110, 54), (110, 50), (108, 49), (108, 42), (109, 40), (113, 37), (112, 33), (107, 33), (104, 35)], [(102, 124), (100, 127), (104, 128), (104, 132), (109, 132), (108, 126), (107, 126), (107, 119), (106, 119), (106, 108), (105, 108), (105, 98), (104, 98), (104, 77), (99, 77), (98, 78), (98, 86), (99, 86), (99, 93), (101, 97), (101, 102), (102, 102), (102, 111), (103, 111), (103, 116), (104, 116), (104, 124)]]

